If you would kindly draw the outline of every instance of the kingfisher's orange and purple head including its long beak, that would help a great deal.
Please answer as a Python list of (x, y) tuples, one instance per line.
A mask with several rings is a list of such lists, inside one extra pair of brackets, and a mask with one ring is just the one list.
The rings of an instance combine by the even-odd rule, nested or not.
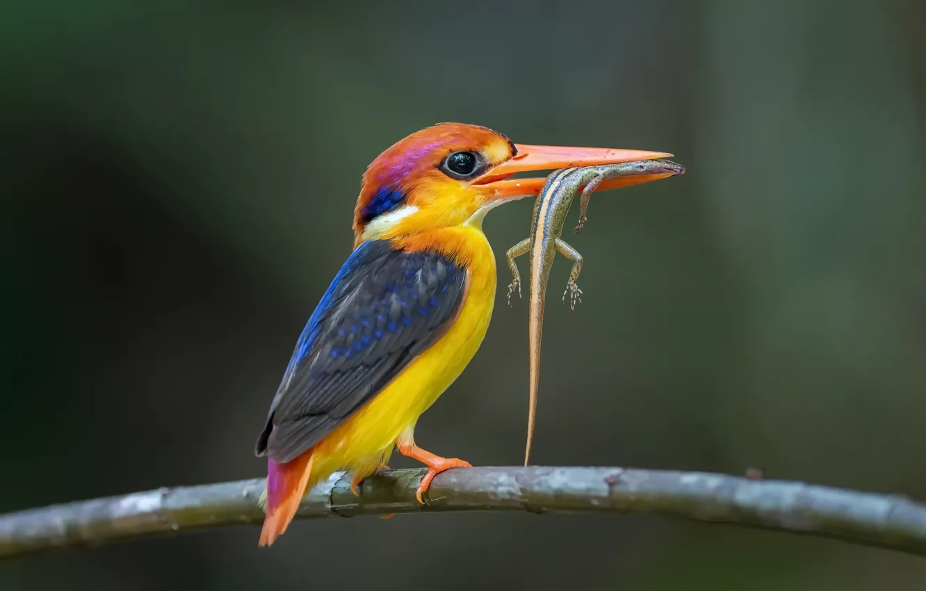
[[(354, 210), (356, 244), (479, 223), (502, 203), (538, 195), (545, 178), (525, 171), (671, 157), (616, 148), (515, 144), (478, 125), (438, 123), (387, 148), (363, 175)], [(618, 177), (598, 190), (655, 181), (669, 174)]]

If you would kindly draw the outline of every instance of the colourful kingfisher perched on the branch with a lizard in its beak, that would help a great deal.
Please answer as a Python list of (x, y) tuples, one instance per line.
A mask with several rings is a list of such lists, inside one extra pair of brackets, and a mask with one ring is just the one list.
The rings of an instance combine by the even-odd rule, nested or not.
[[(670, 157), (617, 148), (515, 144), (479, 125), (438, 123), (386, 148), (363, 174), (354, 249), (299, 334), (257, 437), (268, 458), (259, 546), (286, 531), (308, 490), (333, 472), (351, 490), (393, 449), (432, 479), (469, 462), (415, 443), (415, 424), (482, 344), (495, 298), (495, 257), (482, 220), (538, 195), (519, 172)], [(636, 175), (599, 190), (648, 182)]]

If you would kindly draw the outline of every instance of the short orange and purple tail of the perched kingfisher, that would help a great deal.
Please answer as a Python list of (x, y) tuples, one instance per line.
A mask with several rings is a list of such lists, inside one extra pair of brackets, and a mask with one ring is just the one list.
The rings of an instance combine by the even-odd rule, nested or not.
[(312, 475), (313, 451), (308, 449), (292, 461), (281, 464), (267, 460), (267, 516), (260, 531), (259, 546), (273, 544), (293, 521)]

